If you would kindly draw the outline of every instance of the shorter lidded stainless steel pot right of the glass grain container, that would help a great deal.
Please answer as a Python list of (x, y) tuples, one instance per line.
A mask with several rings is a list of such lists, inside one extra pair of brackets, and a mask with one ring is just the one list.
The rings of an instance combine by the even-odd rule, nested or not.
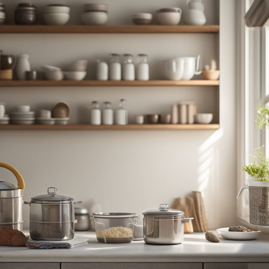
[(193, 218), (184, 218), (184, 212), (160, 204), (158, 209), (143, 212), (144, 241), (154, 245), (180, 244), (184, 240), (184, 223)]

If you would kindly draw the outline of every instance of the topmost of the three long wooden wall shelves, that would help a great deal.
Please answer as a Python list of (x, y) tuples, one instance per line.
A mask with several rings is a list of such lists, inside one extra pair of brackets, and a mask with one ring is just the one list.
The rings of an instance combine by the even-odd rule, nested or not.
[(219, 25), (0, 25), (0, 33), (218, 33)]

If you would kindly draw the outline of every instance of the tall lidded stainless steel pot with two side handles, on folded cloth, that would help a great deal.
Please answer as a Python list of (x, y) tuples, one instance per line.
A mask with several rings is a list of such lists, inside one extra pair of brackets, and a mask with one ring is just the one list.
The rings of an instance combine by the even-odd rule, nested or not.
[(30, 237), (34, 240), (70, 240), (74, 237), (74, 199), (56, 193), (49, 187), (47, 194), (34, 196), (30, 202)]

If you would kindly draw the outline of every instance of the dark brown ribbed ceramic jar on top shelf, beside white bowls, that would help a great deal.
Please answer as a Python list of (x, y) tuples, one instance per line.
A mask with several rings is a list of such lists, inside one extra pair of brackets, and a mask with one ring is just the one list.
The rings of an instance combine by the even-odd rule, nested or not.
[(36, 24), (36, 8), (30, 3), (18, 4), (15, 10), (16, 24)]

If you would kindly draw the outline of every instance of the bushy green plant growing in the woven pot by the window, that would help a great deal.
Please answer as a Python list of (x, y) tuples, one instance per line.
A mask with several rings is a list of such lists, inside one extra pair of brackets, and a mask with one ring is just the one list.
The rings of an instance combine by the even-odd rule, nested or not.
[(242, 166), (241, 170), (245, 171), (257, 181), (269, 182), (269, 158), (264, 158), (262, 148), (264, 146), (255, 149), (256, 154), (251, 155), (254, 158), (258, 158), (258, 162), (250, 163), (249, 165)]

